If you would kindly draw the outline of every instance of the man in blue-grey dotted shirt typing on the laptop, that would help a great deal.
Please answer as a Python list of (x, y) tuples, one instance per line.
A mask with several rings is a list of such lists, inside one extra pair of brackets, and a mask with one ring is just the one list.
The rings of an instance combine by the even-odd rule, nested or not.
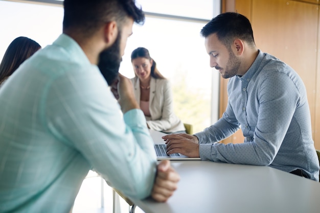
[[(279, 59), (257, 49), (249, 20), (223, 13), (201, 30), (210, 66), (227, 86), (221, 119), (194, 135), (168, 135), (168, 154), (216, 162), (269, 165), (318, 180), (319, 162), (311, 134), (304, 83)], [(241, 126), (243, 144), (216, 143)]]

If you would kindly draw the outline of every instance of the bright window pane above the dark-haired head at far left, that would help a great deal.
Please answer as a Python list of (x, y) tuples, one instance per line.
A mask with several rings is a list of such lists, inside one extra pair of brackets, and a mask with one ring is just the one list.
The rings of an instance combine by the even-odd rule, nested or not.
[(63, 8), (0, 1), (0, 20), (2, 59), (11, 41), (19, 36), (37, 41), (42, 48), (51, 44), (62, 33)]

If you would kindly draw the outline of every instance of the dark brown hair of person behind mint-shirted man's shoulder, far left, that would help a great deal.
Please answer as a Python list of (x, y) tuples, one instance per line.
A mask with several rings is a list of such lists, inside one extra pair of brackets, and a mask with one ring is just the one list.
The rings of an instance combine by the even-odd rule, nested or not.
[(17, 37), (8, 46), (0, 64), (0, 86), (22, 62), (41, 49), (40, 44), (27, 37)]

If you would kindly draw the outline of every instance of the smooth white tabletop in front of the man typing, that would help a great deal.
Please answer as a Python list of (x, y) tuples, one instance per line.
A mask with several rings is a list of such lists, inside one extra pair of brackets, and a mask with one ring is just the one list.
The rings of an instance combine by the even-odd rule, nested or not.
[(131, 199), (146, 213), (320, 212), (320, 183), (313, 180), (254, 165), (171, 163), (181, 180), (166, 203)]

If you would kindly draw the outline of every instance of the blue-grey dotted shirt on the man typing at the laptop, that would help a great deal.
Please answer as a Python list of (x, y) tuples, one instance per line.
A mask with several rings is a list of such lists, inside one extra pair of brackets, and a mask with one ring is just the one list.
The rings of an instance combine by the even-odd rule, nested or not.
[[(291, 67), (259, 51), (244, 76), (229, 80), (227, 92), (221, 119), (195, 134), (202, 160), (269, 165), (286, 172), (302, 169), (318, 180), (306, 88)], [(240, 125), (243, 144), (212, 144)]]

